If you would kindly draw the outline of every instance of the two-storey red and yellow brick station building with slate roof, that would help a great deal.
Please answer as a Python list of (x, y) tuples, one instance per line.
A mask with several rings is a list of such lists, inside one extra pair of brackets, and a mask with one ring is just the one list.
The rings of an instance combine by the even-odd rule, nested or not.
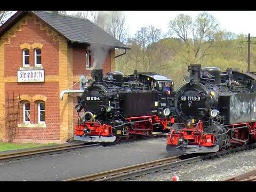
[(81, 75), (90, 77), (95, 65), (103, 64), (105, 74), (115, 70), (115, 48), (129, 49), (87, 19), (56, 11), (15, 13), (0, 27), (0, 139), (6, 140), (13, 93), (14, 100), (20, 95), (13, 141), (72, 138), (77, 94), (60, 100), (60, 92), (79, 90)]

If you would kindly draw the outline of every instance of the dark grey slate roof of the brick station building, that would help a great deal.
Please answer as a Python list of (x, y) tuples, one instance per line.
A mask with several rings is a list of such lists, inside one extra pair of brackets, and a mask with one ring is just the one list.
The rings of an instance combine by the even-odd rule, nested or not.
[(71, 17), (69, 15), (56, 15), (46, 11), (18, 11), (0, 27), (0, 37), (10, 29), (15, 22), (23, 17), (26, 12), (42, 19), (70, 42), (100, 44), (121, 49), (130, 49), (88, 19)]

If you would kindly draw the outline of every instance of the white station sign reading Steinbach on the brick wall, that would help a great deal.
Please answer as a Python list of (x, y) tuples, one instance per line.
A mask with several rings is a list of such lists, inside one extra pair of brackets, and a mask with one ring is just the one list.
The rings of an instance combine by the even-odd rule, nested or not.
[(18, 83), (44, 82), (44, 69), (39, 70), (18, 70)]

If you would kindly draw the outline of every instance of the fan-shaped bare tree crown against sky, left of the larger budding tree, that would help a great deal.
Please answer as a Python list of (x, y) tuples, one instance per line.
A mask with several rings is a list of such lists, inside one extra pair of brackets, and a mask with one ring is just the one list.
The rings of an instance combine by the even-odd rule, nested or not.
[(181, 13), (169, 22), (169, 33), (180, 37), (186, 43), (192, 23), (193, 20), (189, 15)]

